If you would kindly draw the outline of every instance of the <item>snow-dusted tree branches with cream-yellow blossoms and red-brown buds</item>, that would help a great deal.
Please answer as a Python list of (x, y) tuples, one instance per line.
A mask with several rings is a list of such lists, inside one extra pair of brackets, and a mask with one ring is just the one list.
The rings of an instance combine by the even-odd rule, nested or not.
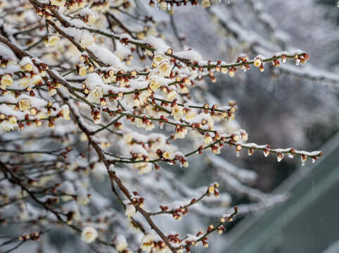
[[(170, 11), (181, 2), (188, 3), (160, 0), (158, 6)], [(207, 8), (210, 0), (200, 4)], [(160, 231), (151, 216), (168, 214), (180, 221), (192, 205), (226, 208), (231, 203), (224, 188), (219, 192), (219, 183), (207, 183), (207, 190), (183, 186), (163, 164), (189, 170), (189, 163), (195, 162), (191, 157), (220, 154), (226, 145), (237, 156), (243, 149), (248, 155), (255, 150), (265, 156), (276, 153), (278, 162), (285, 154), (300, 156), (302, 164), (322, 155), (247, 143), (248, 134), (235, 120), (236, 102), (218, 105), (201, 93), (207, 82), (217, 82), (219, 72), (234, 77), (250, 65), (262, 72), (264, 65), (279, 67), (279, 60), (286, 63), (288, 58), (299, 65), (309, 59), (304, 51), (214, 62), (191, 48), (174, 51), (151, 17), (142, 20), (142, 29), (130, 30), (116, 12), (135, 18), (135, 13), (129, 14), (135, 11), (132, 1), (37, 0), (26, 7), (29, 25), (1, 22), (6, 36), (0, 36), (0, 132), (6, 134), (0, 137), (0, 152), (6, 155), (0, 158), (0, 207), (18, 205), (19, 210), (10, 223), (27, 221), (37, 229), (46, 228), (46, 223), (49, 228), (68, 226), (88, 244), (123, 253), (132, 252), (135, 245), (144, 252), (190, 252), (198, 245), (208, 247), (207, 235), (225, 231), (223, 223), (232, 221), (238, 208), (196, 235), (180, 238), (179, 233)], [(9, 1), (7, 8), (17, 7)], [(13, 15), (9, 23), (18, 22)], [(29, 32), (39, 39), (27, 39)], [(185, 142), (188, 150), (181, 147)], [(226, 161), (208, 159), (227, 190), (244, 188), (243, 183), (255, 178), (250, 171), (225, 169)], [(113, 191), (121, 207), (113, 207), (96, 180)], [(255, 202), (267, 197), (256, 191), (247, 194)], [(159, 205), (178, 196), (184, 200)], [(269, 197), (267, 208), (285, 200)], [(159, 212), (148, 211), (158, 207)], [(41, 209), (48, 214), (40, 214)], [(207, 218), (215, 215), (195, 211)], [(8, 225), (5, 219), (1, 223)], [(126, 223), (128, 231), (143, 233), (142, 239), (127, 237)], [(20, 240), (39, 240), (42, 234)]]

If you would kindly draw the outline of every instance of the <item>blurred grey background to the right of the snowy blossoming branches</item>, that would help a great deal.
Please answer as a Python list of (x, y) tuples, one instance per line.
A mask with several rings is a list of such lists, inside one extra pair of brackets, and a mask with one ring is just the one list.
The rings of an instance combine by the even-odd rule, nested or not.
[[(177, 47), (191, 46), (206, 60), (231, 62), (241, 53), (254, 58), (267, 50), (300, 48), (310, 60), (299, 67), (314, 74), (305, 77), (276, 68), (261, 73), (252, 68), (246, 73), (240, 70), (234, 79), (217, 75), (216, 83), (207, 83), (206, 91), (220, 104), (236, 100), (236, 119), (248, 131), (249, 142), (322, 150), (325, 155), (301, 167), (296, 159), (278, 163), (274, 156), (249, 157), (245, 152), (236, 157), (224, 148), (222, 157), (227, 161), (257, 173), (252, 187), (264, 193), (287, 191), (291, 199), (267, 212), (236, 219), (226, 228), (228, 233), (209, 239), (208, 249), (193, 252), (339, 252), (337, 1), (231, 0), (207, 9), (174, 8), (172, 18), (156, 18), (165, 34), (172, 29), (169, 41), (177, 41)], [(317, 79), (321, 72), (331, 78)], [(200, 168), (196, 179), (206, 179), (206, 169)], [(203, 183), (196, 179), (192, 185)], [(232, 205), (248, 202), (245, 197), (232, 197)]]

